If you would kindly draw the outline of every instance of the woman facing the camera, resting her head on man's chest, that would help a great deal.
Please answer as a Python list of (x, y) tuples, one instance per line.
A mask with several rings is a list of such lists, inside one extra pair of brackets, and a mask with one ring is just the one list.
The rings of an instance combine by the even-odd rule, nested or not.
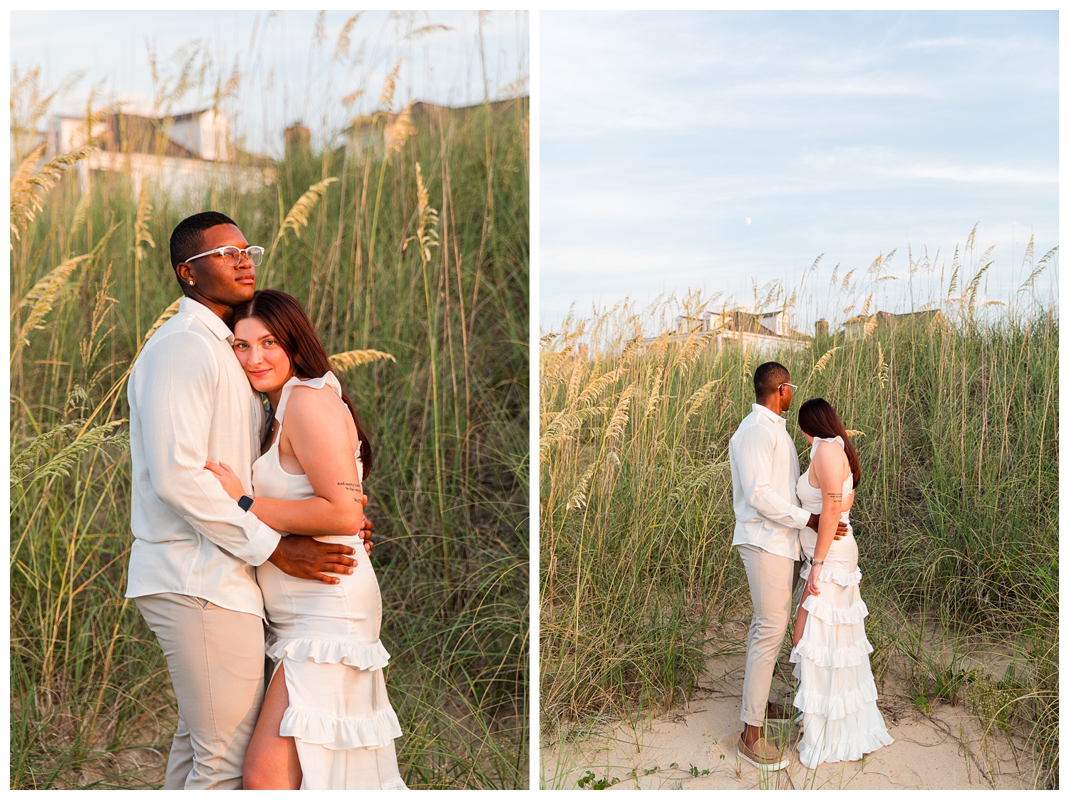
[[(252, 465), (255, 497), (244, 507), (279, 532), (351, 543), (341, 534), (360, 525), (371, 447), (311, 323), (289, 294), (265, 289), (234, 309), (230, 325), (249, 383), (274, 410)], [(242, 498), (226, 464), (206, 468)], [(245, 756), (247, 789), (406, 788), (382, 672), (389, 653), (378, 640), (378, 582), (356, 551), (350, 574), (322, 583), (257, 567), (276, 666)]]

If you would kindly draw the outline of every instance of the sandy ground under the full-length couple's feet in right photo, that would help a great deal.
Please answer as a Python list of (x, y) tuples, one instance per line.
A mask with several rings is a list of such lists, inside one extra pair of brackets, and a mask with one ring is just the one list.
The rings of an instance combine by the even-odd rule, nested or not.
[[(562, 741), (542, 749), (544, 788), (574, 789), (588, 771), (606, 788), (642, 789), (1027, 789), (1032, 764), (1018, 743), (998, 734), (983, 737), (967, 707), (936, 704), (916, 709), (888, 679), (878, 701), (895, 743), (859, 761), (825, 764), (807, 770), (797, 763), (793, 726), (775, 737), (787, 740), (792, 764), (759, 774), (735, 755), (742, 730), (739, 712), (744, 658), (712, 659), (709, 677), (687, 708), (654, 719), (575, 727)], [(779, 683), (780, 689), (784, 688)], [(770, 730), (771, 735), (776, 729)]]

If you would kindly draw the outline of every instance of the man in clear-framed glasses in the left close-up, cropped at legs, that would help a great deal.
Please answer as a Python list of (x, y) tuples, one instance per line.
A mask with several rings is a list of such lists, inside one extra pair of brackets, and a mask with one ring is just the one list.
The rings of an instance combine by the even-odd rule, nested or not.
[(251, 494), (264, 412), (227, 321), (252, 297), (263, 248), (249, 247), (229, 217), (205, 212), (175, 227), (170, 249), (185, 296), (144, 345), (127, 387), (135, 538), (126, 597), (164, 649), (179, 704), (165, 788), (239, 789), (264, 695), (254, 567), (270, 560), (295, 578), (337, 583), (323, 573), (351, 573), (355, 551), (280, 536), (204, 470), (210, 460), (230, 464)]

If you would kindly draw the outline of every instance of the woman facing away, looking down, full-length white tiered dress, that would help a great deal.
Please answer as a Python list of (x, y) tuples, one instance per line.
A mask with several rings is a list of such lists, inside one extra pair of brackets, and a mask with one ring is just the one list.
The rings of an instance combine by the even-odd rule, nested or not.
[[(854, 490), (861, 482), (857, 452), (835, 409), (821, 398), (799, 409), (799, 427), (812, 445), (809, 468), (799, 478), (802, 508), (820, 514), (818, 533), (803, 528), (806, 579), (794, 622), (791, 662), (799, 679), (794, 705), (802, 710), (799, 759), (815, 769), (824, 761), (852, 761), (894, 739), (876, 705), (869, 668), (872, 645), (857, 584), (857, 542), (850, 526)], [(834, 541), (839, 520), (847, 535)]]

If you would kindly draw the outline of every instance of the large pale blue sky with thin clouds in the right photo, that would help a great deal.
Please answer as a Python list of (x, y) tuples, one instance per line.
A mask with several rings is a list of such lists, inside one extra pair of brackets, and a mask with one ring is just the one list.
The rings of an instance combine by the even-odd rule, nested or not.
[[(542, 325), (573, 302), (687, 289), (753, 302), (754, 281), (796, 286), (821, 253), (823, 286), (893, 250), (878, 302), (904, 310), (909, 249), (940, 250), (938, 284), (977, 222), (965, 277), (994, 245), (981, 298), (1013, 295), (1029, 236), (1035, 261), (1057, 245), (1057, 27), (1056, 12), (543, 13)], [(1037, 288), (1056, 296), (1056, 273)]]

